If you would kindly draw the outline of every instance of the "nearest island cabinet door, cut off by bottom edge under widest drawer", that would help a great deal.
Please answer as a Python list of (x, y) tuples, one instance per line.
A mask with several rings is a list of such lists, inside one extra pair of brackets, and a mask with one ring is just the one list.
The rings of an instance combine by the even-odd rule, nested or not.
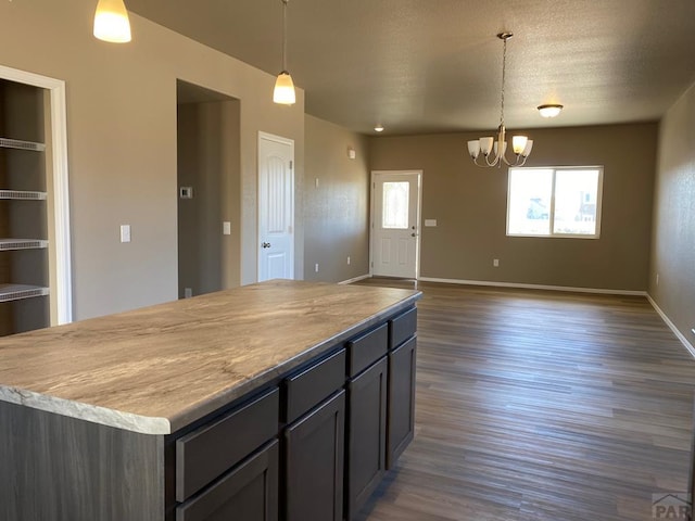
[(176, 521), (278, 520), (278, 442), (176, 508)]

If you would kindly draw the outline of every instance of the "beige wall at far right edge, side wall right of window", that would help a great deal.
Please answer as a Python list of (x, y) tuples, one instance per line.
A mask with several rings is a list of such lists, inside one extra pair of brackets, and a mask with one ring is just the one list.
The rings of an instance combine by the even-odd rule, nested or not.
[(649, 295), (695, 345), (695, 84), (661, 119), (658, 142)]

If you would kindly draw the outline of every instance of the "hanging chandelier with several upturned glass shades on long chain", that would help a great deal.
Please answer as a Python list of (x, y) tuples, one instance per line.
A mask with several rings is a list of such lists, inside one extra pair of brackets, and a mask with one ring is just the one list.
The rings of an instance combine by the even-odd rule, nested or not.
[[(500, 126), (497, 127), (497, 140), (493, 137), (484, 137), (468, 141), (468, 153), (478, 166), (502, 166), (504, 162), (508, 166), (521, 166), (526, 163), (526, 158), (531, 153), (533, 140), (526, 136), (513, 136), (511, 150), (514, 151), (514, 161), (506, 157), (507, 142), (505, 140), (506, 129), (504, 127), (504, 81), (507, 68), (507, 40), (514, 36), (513, 33), (500, 33), (497, 38), (504, 42), (502, 51), (502, 102), (500, 109)], [(478, 157), (482, 154), (482, 163), (478, 163)]]

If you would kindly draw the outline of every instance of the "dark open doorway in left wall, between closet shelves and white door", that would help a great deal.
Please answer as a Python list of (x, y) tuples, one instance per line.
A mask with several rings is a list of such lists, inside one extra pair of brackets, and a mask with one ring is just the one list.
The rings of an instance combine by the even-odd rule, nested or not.
[(177, 94), (179, 298), (240, 284), (240, 102), (182, 80)]

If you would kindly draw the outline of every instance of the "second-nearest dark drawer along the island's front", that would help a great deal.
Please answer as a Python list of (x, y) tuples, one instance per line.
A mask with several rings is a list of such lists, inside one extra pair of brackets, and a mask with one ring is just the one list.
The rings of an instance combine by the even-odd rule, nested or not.
[(345, 383), (345, 350), (330, 355), (303, 371), (285, 379), (287, 409), (285, 421), (290, 423), (318, 405)]

